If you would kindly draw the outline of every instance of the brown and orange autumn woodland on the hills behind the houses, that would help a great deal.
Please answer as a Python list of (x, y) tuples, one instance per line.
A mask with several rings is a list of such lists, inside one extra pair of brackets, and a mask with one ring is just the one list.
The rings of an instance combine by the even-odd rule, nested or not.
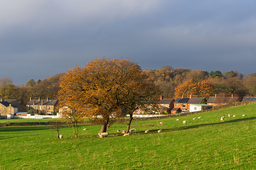
[[(234, 94), (242, 99), (244, 96), (256, 96), (256, 73), (245, 76), (238, 71), (207, 71), (191, 69), (173, 69), (164, 66), (161, 69), (146, 70), (150, 81), (153, 81), (161, 90), (164, 98), (208, 97), (215, 94), (226, 97)], [(44, 80), (30, 79), (26, 85), (14, 85), (8, 77), (0, 79), (0, 97), (16, 99), (26, 111), (26, 103), (32, 99), (58, 99), (60, 79), (65, 73), (60, 73)], [(194, 85), (194, 86), (193, 86)], [(195, 90), (196, 88), (196, 90)], [(204, 93), (207, 89), (207, 93)], [(197, 92), (195, 92), (197, 91)], [(207, 94), (207, 95), (206, 95)]]

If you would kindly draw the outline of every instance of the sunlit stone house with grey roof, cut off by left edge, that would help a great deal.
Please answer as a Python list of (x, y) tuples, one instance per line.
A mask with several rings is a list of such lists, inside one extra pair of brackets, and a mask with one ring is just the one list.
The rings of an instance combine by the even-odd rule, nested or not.
[(14, 114), (21, 111), (22, 106), (16, 99), (0, 99), (0, 119), (13, 117)]

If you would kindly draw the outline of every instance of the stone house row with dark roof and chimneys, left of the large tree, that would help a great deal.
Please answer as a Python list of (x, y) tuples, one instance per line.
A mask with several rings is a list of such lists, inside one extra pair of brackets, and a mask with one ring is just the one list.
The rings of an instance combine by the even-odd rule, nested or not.
[(40, 97), (37, 100), (32, 100), (27, 103), (27, 111), (32, 111), (32, 113), (40, 115), (53, 115), (53, 112), (56, 111), (58, 105), (58, 100), (40, 100)]

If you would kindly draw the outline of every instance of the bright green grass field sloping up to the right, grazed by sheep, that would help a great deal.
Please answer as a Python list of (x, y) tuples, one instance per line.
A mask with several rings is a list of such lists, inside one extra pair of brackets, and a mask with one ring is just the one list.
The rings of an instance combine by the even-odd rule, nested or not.
[[(228, 113), (236, 117), (228, 117)], [(220, 122), (223, 115), (224, 122)], [(204, 118), (198, 119), (200, 116)], [(194, 117), (197, 119), (192, 120)], [(126, 129), (125, 124), (112, 125), (105, 138), (98, 138), (98, 125), (81, 125), (78, 138), (71, 127), (64, 126), (60, 129), (64, 139), (58, 139), (56, 131), (45, 125), (0, 127), (0, 169), (252, 170), (256, 168), (255, 121), (253, 104), (133, 121), (131, 128), (136, 131), (130, 136), (116, 132)], [(162, 133), (157, 132), (160, 128)], [(147, 129), (149, 134), (144, 133)]]

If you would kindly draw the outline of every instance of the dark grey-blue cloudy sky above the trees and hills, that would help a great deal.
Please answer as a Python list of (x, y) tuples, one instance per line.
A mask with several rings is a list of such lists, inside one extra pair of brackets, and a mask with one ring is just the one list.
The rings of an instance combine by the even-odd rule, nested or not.
[(254, 0), (1, 0), (0, 78), (43, 80), (92, 61), (254, 73)]

